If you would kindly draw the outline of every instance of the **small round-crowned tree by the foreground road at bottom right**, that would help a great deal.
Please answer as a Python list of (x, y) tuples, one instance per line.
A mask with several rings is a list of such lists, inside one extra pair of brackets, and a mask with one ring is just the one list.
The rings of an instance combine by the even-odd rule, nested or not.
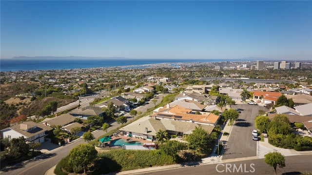
[(279, 152), (272, 152), (264, 155), (264, 161), (269, 166), (274, 168), (274, 175), (276, 175), (276, 168), (283, 168), (286, 166), (285, 157)]

